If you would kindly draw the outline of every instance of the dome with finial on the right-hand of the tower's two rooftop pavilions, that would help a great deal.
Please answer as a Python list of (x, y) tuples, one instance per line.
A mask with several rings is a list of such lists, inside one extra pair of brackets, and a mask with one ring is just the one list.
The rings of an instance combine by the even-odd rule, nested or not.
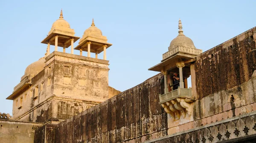
[(83, 37), (80, 39), (80, 41), (82, 41), (85, 37), (87, 36), (95, 36), (95, 37), (102, 37), (102, 31), (97, 28), (94, 24), (94, 20), (91, 24), (91, 27), (89, 27), (88, 29), (86, 29), (84, 31), (84, 35)]

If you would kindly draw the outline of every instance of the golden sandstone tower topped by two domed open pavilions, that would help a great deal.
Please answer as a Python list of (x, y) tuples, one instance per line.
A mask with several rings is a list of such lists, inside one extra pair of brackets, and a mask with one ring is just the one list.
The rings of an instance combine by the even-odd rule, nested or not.
[[(76, 47), (80, 55), (75, 55), (73, 44), (79, 37), (74, 34), (61, 10), (42, 41), (47, 44), (47, 53), (26, 68), (20, 83), (6, 98), (13, 100), (14, 120), (58, 123), (108, 99), (106, 48), (112, 44), (93, 22)], [(55, 46), (52, 53), (50, 45)], [(71, 52), (66, 53), (70, 46)], [(82, 51), (87, 51), (88, 56), (82, 56)], [(104, 59), (98, 59), (102, 51)], [(91, 58), (90, 52), (96, 53), (96, 58)]]

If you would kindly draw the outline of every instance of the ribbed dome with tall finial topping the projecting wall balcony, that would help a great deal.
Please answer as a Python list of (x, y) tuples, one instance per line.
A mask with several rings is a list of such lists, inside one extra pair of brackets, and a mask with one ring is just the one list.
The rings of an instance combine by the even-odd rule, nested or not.
[(182, 30), (182, 24), (181, 24), (181, 20), (179, 19), (179, 31), (178, 31), (178, 36), (172, 40), (172, 42), (170, 43), (170, 46), (168, 48), (168, 50), (172, 50), (173, 48), (176, 48), (177, 46), (181, 46), (181, 47), (189, 47), (189, 48), (195, 48), (194, 42), (192, 41), (192, 39), (190, 39), (189, 37), (185, 36), (183, 34), (183, 30)]

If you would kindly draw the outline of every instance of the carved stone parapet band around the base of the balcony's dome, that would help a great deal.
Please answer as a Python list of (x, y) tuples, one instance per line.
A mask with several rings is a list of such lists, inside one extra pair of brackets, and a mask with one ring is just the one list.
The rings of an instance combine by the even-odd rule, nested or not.
[(196, 49), (196, 48), (189, 48), (189, 47), (183, 47), (183, 46), (177, 46), (175, 48), (172, 48), (171, 50), (169, 50), (168, 52), (163, 54), (163, 60), (169, 58), (170, 56), (176, 54), (176, 53), (188, 53), (191, 55), (199, 55), (200, 53), (202, 53), (201, 49)]

